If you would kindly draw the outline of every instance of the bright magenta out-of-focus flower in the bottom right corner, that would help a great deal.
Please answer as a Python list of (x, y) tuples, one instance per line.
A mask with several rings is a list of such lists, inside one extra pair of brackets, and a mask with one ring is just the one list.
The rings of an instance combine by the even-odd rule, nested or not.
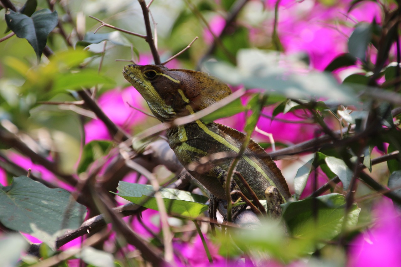
[(349, 249), (349, 267), (401, 266), (401, 214), (383, 200), (374, 208), (375, 223), (358, 235)]

